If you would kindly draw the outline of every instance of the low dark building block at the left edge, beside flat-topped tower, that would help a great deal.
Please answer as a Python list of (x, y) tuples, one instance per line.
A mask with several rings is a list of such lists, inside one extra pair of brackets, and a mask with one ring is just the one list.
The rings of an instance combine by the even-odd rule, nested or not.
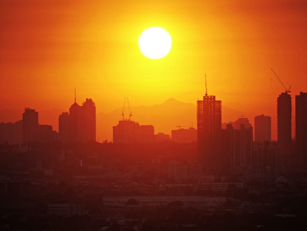
[(22, 143), (22, 120), (15, 123), (0, 123), (0, 144), (21, 144)]

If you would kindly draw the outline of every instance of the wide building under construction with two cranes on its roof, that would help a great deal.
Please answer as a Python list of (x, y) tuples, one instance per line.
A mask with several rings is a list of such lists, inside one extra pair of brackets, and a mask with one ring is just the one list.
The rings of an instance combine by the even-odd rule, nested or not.
[[(129, 119), (124, 116), (125, 103), (128, 103)], [(131, 120), (132, 111), (130, 110), (128, 98), (124, 99), (122, 109), (122, 120), (116, 126), (113, 126), (113, 143), (151, 143), (154, 141), (153, 125), (140, 125), (138, 122)]]

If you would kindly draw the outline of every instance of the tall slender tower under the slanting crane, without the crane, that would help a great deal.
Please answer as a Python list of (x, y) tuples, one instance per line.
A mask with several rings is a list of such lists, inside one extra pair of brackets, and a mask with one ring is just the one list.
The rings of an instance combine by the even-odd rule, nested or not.
[(281, 167), (291, 166), (291, 96), (283, 92), (277, 98), (277, 139)]

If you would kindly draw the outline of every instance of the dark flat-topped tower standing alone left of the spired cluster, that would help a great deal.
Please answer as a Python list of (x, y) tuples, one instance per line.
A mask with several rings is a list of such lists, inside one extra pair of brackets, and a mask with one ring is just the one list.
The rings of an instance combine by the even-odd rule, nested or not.
[(39, 141), (38, 112), (25, 108), (22, 114), (23, 142)]

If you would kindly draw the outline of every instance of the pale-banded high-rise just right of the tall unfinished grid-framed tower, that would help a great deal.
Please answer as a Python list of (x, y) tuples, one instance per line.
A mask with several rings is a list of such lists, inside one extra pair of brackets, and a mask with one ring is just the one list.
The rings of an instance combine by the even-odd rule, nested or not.
[(247, 167), (252, 165), (253, 154), (253, 127), (234, 129), (233, 143), (233, 172), (244, 174)]

